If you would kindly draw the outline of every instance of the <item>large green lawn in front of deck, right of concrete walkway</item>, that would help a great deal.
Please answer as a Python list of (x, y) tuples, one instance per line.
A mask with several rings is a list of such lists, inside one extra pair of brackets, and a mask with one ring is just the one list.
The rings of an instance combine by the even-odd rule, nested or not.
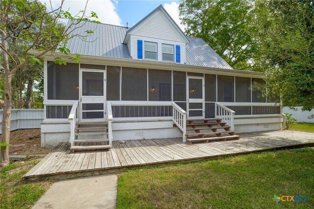
[(133, 169), (118, 176), (117, 208), (314, 208), (313, 159), (302, 148)]

